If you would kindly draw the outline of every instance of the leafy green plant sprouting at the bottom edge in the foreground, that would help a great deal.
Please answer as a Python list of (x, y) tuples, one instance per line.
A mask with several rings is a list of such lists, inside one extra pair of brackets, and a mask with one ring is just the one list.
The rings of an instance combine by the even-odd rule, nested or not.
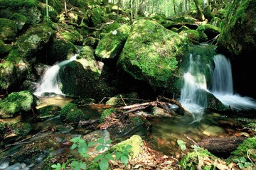
[[(70, 147), (70, 149), (78, 149), (78, 153), (82, 157), (82, 159), (72, 159), (72, 162), (70, 163), (70, 166), (74, 170), (80, 170), (80, 169), (95, 169), (96, 167), (100, 167), (100, 170), (107, 170), (109, 168), (109, 161), (114, 160), (114, 157), (112, 157), (112, 154), (106, 153), (106, 154), (99, 154), (93, 162), (87, 162), (86, 164), (86, 158), (89, 157), (88, 149), (89, 147), (95, 146), (94, 142), (85, 142), (85, 140), (81, 139), (81, 136), (74, 137), (70, 140), (70, 142), (73, 142), (73, 145)], [(96, 151), (102, 152), (105, 149), (110, 148), (110, 144), (112, 143), (112, 140), (105, 141), (103, 137), (100, 137), (99, 140), (97, 140), (97, 147)], [(129, 149), (131, 149), (130, 145), (127, 145), (126, 147), (122, 148), (122, 151), (115, 152), (116, 160), (120, 160), (125, 166), (128, 163), (129, 160)], [(98, 164), (95, 164), (98, 163)], [(66, 168), (66, 163), (64, 164), (53, 164), (51, 166), (53, 169), (60, 170)]]

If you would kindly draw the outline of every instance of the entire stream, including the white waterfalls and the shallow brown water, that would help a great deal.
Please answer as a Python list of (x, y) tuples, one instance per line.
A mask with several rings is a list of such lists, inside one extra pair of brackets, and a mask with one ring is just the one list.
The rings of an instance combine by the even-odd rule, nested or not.
[[(72, 60), (75, 59), (73, 58)], [(180, 102), (193, 114), (192, 117), (184, 115), (171, 118), (151, 118), (149, 119), (149, 122), (152, 125), (150, 131), (143, 127), (139, 127), (132, 130), (132, 132), (129, 132), (127, 135), (140, 135), (144, 140), (149, 142), (152, 147), (166, 155), (181, 152), (181, 149), (176, 142), (177, 140), (189, 142), (188, 137), (194, 142), (199, 142), (207, 137), (249, 137), (250, 134), (245, 130), (241, 130), (241, 128), (242, 125), (253, 122), (255, 119), (239, 118), (235, 115), (227, 116), (207, 111), (205, 109), (205, 103), (198, 102), (198, 97), (195, 96), (196, 90), (205, 89), (214, 94), (223, 104), (230, 106), (236, 111), (242, 113), (247, 110), (256, 110), (256, 102), (253, 98), (233, 93), (230, 62), (225, 56), (217, 55), (214, 60), (216, 67), (215, 70), (212, 71), (213, 83), (210, 89), (206, 88), (206, 79), (204, 75), (195, 73), (195, 70), (199, 66), (198, 64), (195, 64), (196, 60), (194, 60), (192, 56), (188, 70), (183, 75), (184, 85), (181, 89)], [(65, 63), (67, 63), (67, 61), (61, 62), (58, 64), (58, 67)], [(37, 108), (48, 105), (57, 105), (62, 108), (65, 104), (73, 101), (73, 98), (65, 97), (60, 89), (58, 89), (58, 86), (55, 86), (57, 84), (55, 80), (56, 76), (50, 73), (53, 73), (53, 70), (55, 70), (55, 74), (58, 74), (58, 67), (53, 67), (54, 68), (50, 68), (50, 72), (46, 72), (48, 77), (50, 77), (50, 81), (47, 75), (45, 75), (41, 82), (41, 88), (38, 88), (37, 91), (35, 91), (35, 94), (40, 96), (39, 98), (41, 100), (41, 104), (38, 105)], [(49, 86), (50, 89), (44, 88), (48, 88)], [(57, 95), (53, 97), (43, 97), (41, 94), (44, 92), (55, 93)], [(105, 108), (97, 106), (84, 106), (80, 109), (87, 115), (90, 115), (90, 119), (92, 120), (99, 119), (101, 113), (105, 110)], [(11, 166), (9, 166), (9, 164), (11, 157), (14, 157), (17, 152), (20, 152), (19, 149), (21, 149), (23, 145), (32, 145), (33, 142), (38, 139), (51, 139), (62, 144), (60, 146), (55, 146), (54, 154), (65, 154), (70, 152), (69, 145), (65, 145), (70, 138), (89, 132), (90, 130), (82, 128), (82, 126), (78, 125), (74, 128), (72, 125), (63, 123), (59, 115), (56, 115), (54, 118), (38, 121), (34, 123), (33, 130), (31, 130), (26, 137), (21, 139), (10, 135), (1, 141), (0, 169), (40, 169), (42, 160), (46, 158), (44, 152), (38, 154), (36, 162), (33, 164), (26, 164), (26, 159), (21, 161), (20, 164)], [(113, 134), (107, 132), (107, 130), (103, 130), (100, 134), (103, 135), (105, 139), (115, 140), (112, 139)], [(43, 145), (48, 145), (48, 143)], [(45, 149), (45, 147), (42, 147), (42, 149)]]

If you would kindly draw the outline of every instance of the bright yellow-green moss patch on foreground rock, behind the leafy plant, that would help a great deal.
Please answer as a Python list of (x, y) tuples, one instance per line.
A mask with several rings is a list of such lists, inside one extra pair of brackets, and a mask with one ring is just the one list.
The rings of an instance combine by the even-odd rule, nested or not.
[(131, 157), (138, 157), (139, 153), (143, 151), (142, 147), (144, 146), (142, 137), (139, 135), (133, 135), (128, 140), (124, 140), (122, 142), (119, 142), (117, 145), (114, 145), (110, 148), (110, 152), (119, 152), (122, 151), (123, 147), (126, 147), (127, 145), (131, 145), (132, 148), (129, 150), (129, 155)]

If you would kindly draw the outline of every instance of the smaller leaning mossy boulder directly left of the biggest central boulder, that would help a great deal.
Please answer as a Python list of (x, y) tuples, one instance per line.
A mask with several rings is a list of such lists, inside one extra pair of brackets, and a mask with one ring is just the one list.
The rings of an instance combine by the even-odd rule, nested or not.
[(129, 35), (129, 26), (123, 25), (111, 33), (107, 33), (104, 38), (100, 40), (96, 49), (95, 55), (100, 59), (114, 59), (119, 57), (122, 47)]

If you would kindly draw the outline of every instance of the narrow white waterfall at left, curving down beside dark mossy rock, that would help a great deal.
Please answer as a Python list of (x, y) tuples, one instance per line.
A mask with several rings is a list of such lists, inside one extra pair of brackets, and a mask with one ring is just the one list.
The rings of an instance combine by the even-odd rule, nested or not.
[(53, 65), (50, 67), (46, 73), (43, 75), (41, 82), (39, 82), (39, 86), (36, 88), (36, 91), (33, 93), (36, 96), (41, 96), (43, 93), (54, 93), (54, 94), (62, 94), (60, 87), (58, 86), (58, 72), (60, 67), (68, 62), (76, 60), (78, 54), (75, 54), (70, 60), (64, 60), (58, 64)]

